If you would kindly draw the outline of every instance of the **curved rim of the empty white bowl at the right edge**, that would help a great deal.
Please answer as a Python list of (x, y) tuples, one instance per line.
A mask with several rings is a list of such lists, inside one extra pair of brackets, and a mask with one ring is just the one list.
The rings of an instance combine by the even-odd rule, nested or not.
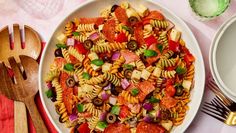
[[(228, 96), (230, 99), (232, 99), (233, 101), (236, 102), (236, 93), (232, 92), (223, 82), (222, 78), (220, 77), (220, 74), (218, 72), (217, 69), (217, 65), (216, 65), (216, 51), (217, 51), (217, 47), (219, 44), (219, 41), (222, 37), (222, 35), (224, 34), (224, 32), (228, 29), (228, 27), (232, 24), (236, 22), (236, 15), (233, 15), (231, 18), (229, 18), (227, 21), (225, 21), (221, 27), (218, 29), (218, 31), (216, 32), (214, 39), (211, 43), (211, 47), (210, 47), (210, 52), (209, 52), (209, 62), (210, 62), (210, 70), (211, 70), (211, 74), (216, 82), (216, 84), (219, 86), (219, 89), (226, 95)], [(233, 98), (234, 97), (234, 98)]]

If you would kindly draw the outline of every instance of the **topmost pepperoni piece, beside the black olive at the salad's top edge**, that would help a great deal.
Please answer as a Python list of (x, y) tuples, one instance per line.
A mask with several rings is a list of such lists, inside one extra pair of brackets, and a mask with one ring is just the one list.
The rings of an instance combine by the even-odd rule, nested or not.
[(124, 8), (117, 7), (115, 10), (116, 18), (123, 24), (128, 24), (128, 16)]

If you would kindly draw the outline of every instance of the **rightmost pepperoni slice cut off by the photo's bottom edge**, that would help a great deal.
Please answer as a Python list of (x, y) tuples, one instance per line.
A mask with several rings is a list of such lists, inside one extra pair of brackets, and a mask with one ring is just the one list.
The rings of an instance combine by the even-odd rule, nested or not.
[(165, 133), (165, 129), (154, 123), (139, 122), (136, 133)]

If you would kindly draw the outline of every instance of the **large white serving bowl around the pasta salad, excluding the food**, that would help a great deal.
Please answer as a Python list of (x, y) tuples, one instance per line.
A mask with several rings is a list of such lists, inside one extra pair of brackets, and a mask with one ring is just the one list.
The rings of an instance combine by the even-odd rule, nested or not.
[[(190, 109), (186, 115), (186, 118), (180, 126), (177, 128), (174, 128), (172, 130), (173, 133), (182, 133), (184, 132), (187, 127), (190, 125), (190, 123), (193, 121), (204, 92), (204, 86), (205, 86), (205, 68), (203, 63), (202, 54), (199, 48), (199, 45), (191, 32), (191, 30), (188, 28), (188, 26), (174, 13), (169, 11), (168, 9), (162, 7), (161, 5), (158, 5), (157, 3), (154, 3), (152, 1), (142, 1), (142, 0), (135, 0), (129, 1), (132, 6), (136, 7), (138, 4), (142, 3), (143, 5), (147, 6), (151, 10), (161, 10), (166, 18), (174, 22), (176, 25), (176, 28), (182, 31), (182, 37), (186, 41), (187, 47), (190, 49), (190, 51), (193, 53), (193, 55), (196, 57), (196, 63), (195, 63), (195, 87), (191, 91), (191, 102), (189, 103)], [(56, 129), (60, 132), (69, 132), (69, 129), (65, 128), (65, 126), (58, 121), (58, 114), (56, 113), (54, 109), (54, 104), (46, 97), (44, 92), (46, 91), (46, 84), (44, 83), (43, 77), (46, 75), (46, 73), (49, 71), (49, 66), (52, 63), (54, 59), (54, 49), (56, 41), (56, 36), (63, 31), (64, 25), (67, 21), (72, 20), (74, 17), (93, 17), (98, 16), (99, 11), (103, 9), (104, 7), (107, 7), (108, 5), (113, 4), (119, 4), (119, 0), (97, 0), (97, 1), (88, 1), (84, 4), (81, 4), (77, 10), (72, 12), (64, 21), (57, 27), (54, 34), (51, 36), (50, 41), (46, 45), (45, 50), (42, 54), (42, 59), (40, 62), (40, 70), (39, 70), (39, 88), (40, 88), (40, 97), (43, 102), (43, 106), (53, 123), (53, 125), (56, 127)]]

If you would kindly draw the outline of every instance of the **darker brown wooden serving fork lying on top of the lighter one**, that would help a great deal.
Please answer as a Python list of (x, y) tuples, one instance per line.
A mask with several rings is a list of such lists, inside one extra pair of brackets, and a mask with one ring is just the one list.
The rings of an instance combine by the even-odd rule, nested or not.
[(37, 133), (48, 133), (34, 102), (35, 95), (38, 92), (38, 63), (33, 58), (25, 55), (20, 55), (19, 57), (26, 76), (23, 76), (16, 60), (10, 57), (9, 63), (14, 71), (16, 82), (13, 82), (8, 75), (6, 65), (0, 63), (0, 85), (7, 86), (7, 89), (2, 89), (1, 91), (10, 99), (25, 103)]

